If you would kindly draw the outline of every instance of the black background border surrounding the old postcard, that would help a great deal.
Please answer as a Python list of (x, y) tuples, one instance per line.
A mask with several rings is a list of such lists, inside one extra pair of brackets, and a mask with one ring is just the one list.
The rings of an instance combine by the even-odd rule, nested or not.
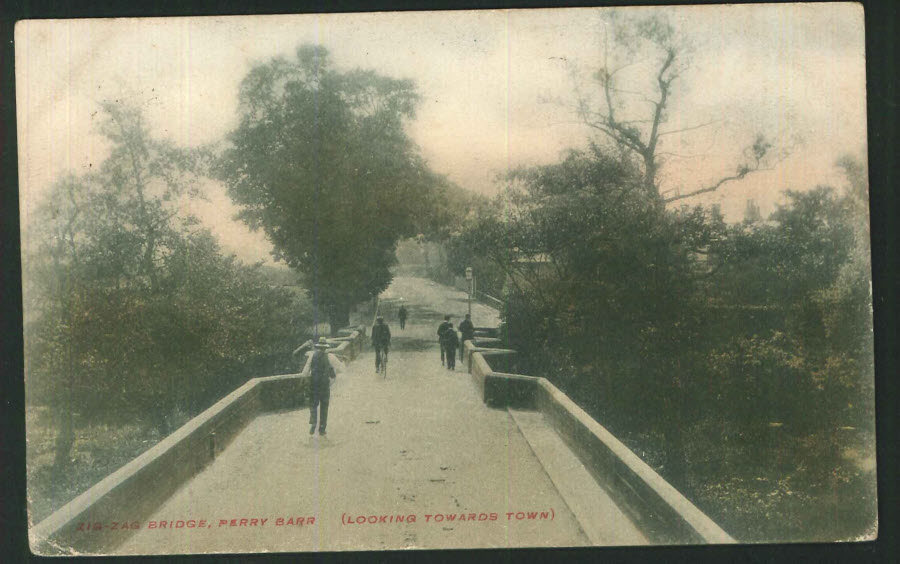
[[(640, 2), (666, 4), (666, 2)], [(693, 2), (707, 4), (713, 2)], [(735, 3), (735, 2), (733, 2)], [(407, 551), (379, 553), (281, 554), (240, 556), (190, 556), (132, 558), (155, 561), (274, 560), (282, 562), (897, 562), (897, 311), (896, 296), (900, 237), (897, 216), (898, 151), (896, 66), (898, 47), (897, 4), (892, 0), (862, 2), (866, 11), (866, 74), (869, 117), (869, 178), (872, 225), (873, 293), (875, 307), (875, 378), (878, 453), (879, 538), (873, 542), (828, 545), (756, 545), (736, 547), (653, 547), (541, 550)], [(25, 414), (22, 357), (21, 264), (19, 253), (18, 179), (15, 126), (15, 69), (13, 29), (15, 22), (28, 18), (85, 18), (129, 16), (247, 15), (302, 12), (359, 12), (413, 9), (538, 8), (618, 6), (625, 2), (547, 1), (448, 1), (411, 2), (402, 0), (123, 0), (40, 1), (6, 0), (0, 3), (0, 292), (2, 292), (3, 333), (0, 351), (0, 539), (4, 546), (0, 560), (26, 562), (46, 560), (30, 554), (25, 515)], [(92, 561), (93, 559), (79, 559)], [(104, 558), (104, 561), (111, 559)], [(119, 560), (119, 559), (112, 559)], [(60, 559), (53, 559), (54, 562)]]

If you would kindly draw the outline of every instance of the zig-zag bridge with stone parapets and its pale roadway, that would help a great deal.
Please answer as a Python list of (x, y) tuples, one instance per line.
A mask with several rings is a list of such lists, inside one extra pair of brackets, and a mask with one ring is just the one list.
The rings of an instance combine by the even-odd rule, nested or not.
[[(386, 378), (365, 336), (328, 436), (308, 434), (307, 379), (256, 378), (30, 530), (38, 554), (190, 554), (613, 546), (734, 540), (544, 378), (515, 374), (489, 329), (441, 366), (458, 290), (397, 277), (382, 295)], [(410, 312), (400, 330), (393, 312)], [(473, 305), (496, 327), (498, 313)], [(363, 322), (366, 322), (363, 324)]]

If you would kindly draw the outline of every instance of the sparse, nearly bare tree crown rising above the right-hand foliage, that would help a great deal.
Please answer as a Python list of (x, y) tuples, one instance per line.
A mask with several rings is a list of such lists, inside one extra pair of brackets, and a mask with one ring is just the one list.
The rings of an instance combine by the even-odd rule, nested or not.
[[(665, 129), (673, 90), (690, 64), (691, 46), (678, 36), (667, 19), (658, 15), (629, 18), (613, 12), (610, 27), (614, 32), (614, 46), (610, 47), (606, 42), (604, 64), (592, 75), (597, 91), (582, 91), (577, 86), (575, 111), (582, 123), (612, 142), (623, 155), (641, 163), (643, 178), (640, 186), (646, 197), (665, 204), (714, 192), (771, 164), (773, 146), (763, 135), (757, 134), (753, 143), (743, 150), (733, 174), (707, 186), (666, 196), (671, 190), (663, 191), (659, 185), (659, 172), (665, 164), (660, 150), (663, 137), (711, 125), (708, 122)], [(624, 62), (617, 58), (623, 55)], [(622, 74), (635, 67), (649, 75), (636, 79), (637, 91), (630, 84), (621, 84), (624, 82)], [(784, 158), (784, 155), (778, 158)]]

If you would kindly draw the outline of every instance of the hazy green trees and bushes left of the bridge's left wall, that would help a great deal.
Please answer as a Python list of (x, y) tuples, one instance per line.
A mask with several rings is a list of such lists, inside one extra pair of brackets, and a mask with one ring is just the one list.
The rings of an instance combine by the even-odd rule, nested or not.
[(302, 340), (291, 294), (179, 212), (196, 155), (150, 137), (133, 109), (105, 111), (110, 156), (54, 185), (25, 248), (27, 400), (56, 417), (57, 470), (75, 428), (166, 434), (248, 375), (290, 369)]

